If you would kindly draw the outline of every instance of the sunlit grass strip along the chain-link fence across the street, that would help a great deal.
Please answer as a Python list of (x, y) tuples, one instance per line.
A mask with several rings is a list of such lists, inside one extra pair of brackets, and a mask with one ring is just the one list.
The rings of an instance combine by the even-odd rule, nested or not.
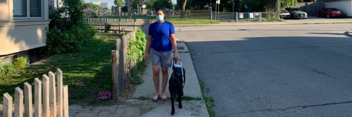
[[(127, 16), (99, 16), (99, 18), (127, 18)], [(132, 16), (133, 19), (153, 19), (156, 21), (155, 16)], [(165, 17), (166, 21), (171, 22), (174, 25), (180, 25), (180, 24), (220, 24), (219, 21), (212, 21), (209, 19), (179, 19), (179, 18), (169, 18), (168, 16)]]

